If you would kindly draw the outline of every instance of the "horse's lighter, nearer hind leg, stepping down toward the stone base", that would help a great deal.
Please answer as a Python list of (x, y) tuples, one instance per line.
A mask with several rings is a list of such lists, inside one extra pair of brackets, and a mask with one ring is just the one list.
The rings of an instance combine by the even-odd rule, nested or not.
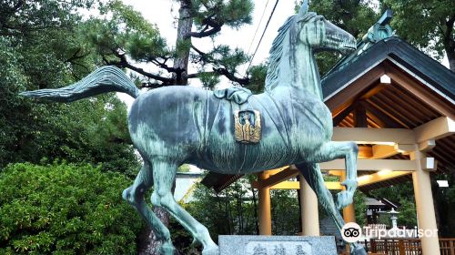
[(167, 209), (193, 235), (195, 240), (202, 243), (204, 246), (202, 254), (217, 255), (217, 245), (210, 238), (207, 228), (194, 219), (185, 209), (181, 208), (172, 195), (171, 188), (176, 178), (177, 164), (157, 159), (152, 161), (152, 165), (153, 178), (155, 179), (155, 190), (151, 198), (152, 204)]

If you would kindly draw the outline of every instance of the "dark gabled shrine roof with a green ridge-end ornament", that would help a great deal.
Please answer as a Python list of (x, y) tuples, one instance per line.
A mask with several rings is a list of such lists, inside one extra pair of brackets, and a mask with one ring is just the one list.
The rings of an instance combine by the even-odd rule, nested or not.
[(357, 50), (341, 58), (321, 78), (324, 98), (333, 97), (342, 87), (389, 59), (418, 76), (427, 86), (455, 100), (455, 73), (395, 36), (389, 26), (391, 17), (391, 10), (386, 11), (379, 21), (369, 28), (367, 35), (359, 40)]

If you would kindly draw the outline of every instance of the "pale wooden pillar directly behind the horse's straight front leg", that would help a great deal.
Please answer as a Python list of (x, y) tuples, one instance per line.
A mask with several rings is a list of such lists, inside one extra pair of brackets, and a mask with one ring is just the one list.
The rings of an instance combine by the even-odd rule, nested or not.
[(300, 175), (299, 181), (302, 236), (319, 236), (318, 198), (302, 175)]

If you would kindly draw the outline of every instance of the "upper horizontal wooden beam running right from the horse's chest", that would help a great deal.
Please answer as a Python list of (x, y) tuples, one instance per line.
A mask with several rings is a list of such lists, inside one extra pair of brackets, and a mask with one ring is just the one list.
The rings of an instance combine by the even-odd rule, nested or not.
[(415, 144), (414, 132), (406, 128), (333, 128), (333, 141), (356, 141), (360, 144)]

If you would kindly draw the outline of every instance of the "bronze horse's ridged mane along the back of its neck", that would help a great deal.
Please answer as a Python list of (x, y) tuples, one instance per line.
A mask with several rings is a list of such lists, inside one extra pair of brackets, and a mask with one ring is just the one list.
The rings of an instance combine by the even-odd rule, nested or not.
[(288, 34), (288, 30), (296, 15), (291, 15), (288, 17), (283, 26), (278, 29), (278, 36), (275, 37), (270, 48), (270, 56), (268, 58), (268, 71), (266, 77), (266, 91), (272, 90), (278, 85), (278, 76), (279, 76), (279, 61), (283, 53), (283, 40)]

